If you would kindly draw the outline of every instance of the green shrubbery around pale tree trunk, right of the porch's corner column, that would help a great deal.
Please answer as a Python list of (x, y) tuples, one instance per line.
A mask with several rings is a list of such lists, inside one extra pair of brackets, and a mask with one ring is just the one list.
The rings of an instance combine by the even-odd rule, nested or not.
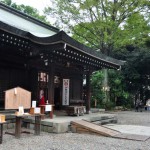
[[(107, 94), (110, 96), (110, 101), (105, 102), (105, 92), (103, 90), (103, 71), (96, 71), (91, 77), (92, 86), (92, 106), (97, 100), (97, 107), (107, 108), (116, 105), (131, 105), (131, 99), (129, 99), (129, 93), (127, 92), (126, 83), (124, 82), (124, 76), (121, 71), (108, 70), (108, 85), (110, 86), (110, 91)], [(111, 106), (108, 106), (111, 105)]]

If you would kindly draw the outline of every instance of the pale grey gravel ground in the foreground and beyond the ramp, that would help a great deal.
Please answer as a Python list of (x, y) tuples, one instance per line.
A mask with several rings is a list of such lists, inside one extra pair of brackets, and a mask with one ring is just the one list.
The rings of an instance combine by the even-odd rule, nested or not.
[[(150, 126), (150, 111), (113, 113), (117, 115), (118, 124)], [(88, 134), (44, 132), (40, 136), (23, 134), (16, 139), (4, 134), (0, 150), (150, 150), (150, 139), (143, 142)]]

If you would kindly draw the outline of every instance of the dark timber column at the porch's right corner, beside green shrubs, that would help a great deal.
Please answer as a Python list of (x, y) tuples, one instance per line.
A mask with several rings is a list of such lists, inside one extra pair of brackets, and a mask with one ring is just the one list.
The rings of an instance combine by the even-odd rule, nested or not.
[(90, 72), (86, 74), (86, 113), (90, 112), (90, 100), (91, 100), (91, 86), (90, 86)]

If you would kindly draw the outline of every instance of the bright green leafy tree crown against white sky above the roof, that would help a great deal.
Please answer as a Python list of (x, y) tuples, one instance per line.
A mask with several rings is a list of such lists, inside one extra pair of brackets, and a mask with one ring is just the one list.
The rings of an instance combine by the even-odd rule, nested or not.
[[(45, 12), (66, 25), (73, 37), (111, 55), (118, 47), (145, 42), (149, 0), (52, 0)], [(68, 28), (69, 27), (69, 28)]]

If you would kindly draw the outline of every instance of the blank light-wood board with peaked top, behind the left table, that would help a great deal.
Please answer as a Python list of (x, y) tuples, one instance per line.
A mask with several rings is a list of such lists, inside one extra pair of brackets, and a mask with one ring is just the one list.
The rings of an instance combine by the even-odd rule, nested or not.
[(5, 91), (5, 109), (18, 109), (19, 106), (31, 107), (31, 92), (20, 87)]

